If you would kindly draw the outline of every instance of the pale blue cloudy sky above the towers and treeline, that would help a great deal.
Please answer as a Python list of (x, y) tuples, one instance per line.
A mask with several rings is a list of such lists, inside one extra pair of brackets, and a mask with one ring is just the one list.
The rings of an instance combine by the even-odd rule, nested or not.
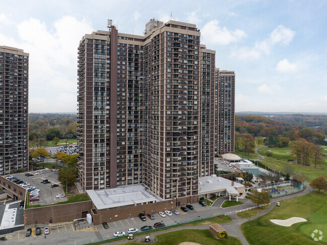
[(155, 18), (196, 24), (235, 71), (235, 111), (327, 112), (327, 1), (5, 1), (0, 45), (30, 54), (29, 112), (77, 112), (77, 47), (86, 33), (143, 35)]

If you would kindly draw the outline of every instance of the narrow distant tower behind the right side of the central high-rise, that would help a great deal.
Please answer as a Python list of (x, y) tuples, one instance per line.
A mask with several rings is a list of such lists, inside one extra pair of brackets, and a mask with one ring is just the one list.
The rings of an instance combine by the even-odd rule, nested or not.
[(234, 71), (215, 70), (215, 123), (215, 154), (234, 153)]

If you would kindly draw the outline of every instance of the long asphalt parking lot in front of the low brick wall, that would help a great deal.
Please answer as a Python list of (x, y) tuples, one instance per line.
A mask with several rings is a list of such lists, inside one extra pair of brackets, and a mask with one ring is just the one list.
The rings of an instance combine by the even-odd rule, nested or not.
[[(176, 225), (187, 220), (193, 220), (194, 218), (202, 217), (203, 211), (208, 213), (212, 212), (210, 207), (202, 207), (198, 203), (192, 204), (193, 210), (188, 209), (187, 212), (183, 212), (180, 208), (177, 210), (180, 212), (179, 215), (173, 214), (172, 216), (161, 217), (158, 213), (154, 213), (154, 219), (150, 220), (146, 216), (146, 221), (142, 221), (139, 217), (133, 217), (128, 219), (122, 219), (119, 221), (111, 222), (106, 220), (108, 223), (108, 228), (105, 229), (103, 225), (96, 225), (85, 223), (72, 223), (68, 222), (62, 225), (52, 225), (49, 226), (50, 233), (46, 235), (47, 243), (51, 242), (61, 243), (61, 244), (74, 244), (76, 241), (84, 240), (89, 242), (95, 242), (98, 240), (105, 240), (114, 238), (114, 233), (117, 231), (123, 231), (128, 235), (127, 230), (129, 228), (141, 229), (142, 226), (150, 225), (153, 226), (156, 222), (163, 222), (166, 226)], [(164, 210), (162, 210), (164, 211)], [(217, 214), (216, 214), (217, 215)], [(28, 227), (27, 227), (28, 228)], [(7, 235), (10, 237), (8, 241), (4, 244), (21, 244), (33, 243), (33, 244), (44, 244), (44, 226), (41, 227), (41, 235), (35, 234), (35, 226), (32, 228), (32, 234), (30, 237), (25, 237), (25, 230), (17, 231)], [(155, 228), (153, 230), (156, 230)], [(9, 242), (10, 241), (10, 242)]]

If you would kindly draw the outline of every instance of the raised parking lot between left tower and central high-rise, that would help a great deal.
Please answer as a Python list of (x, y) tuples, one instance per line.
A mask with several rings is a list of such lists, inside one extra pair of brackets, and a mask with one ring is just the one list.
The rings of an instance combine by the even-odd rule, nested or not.
[[(37, 172), (42, 172), (42, 174), (35, 175)], [(58, 181), (57, 172), (51, 172), (51, 170), (45, 169), (42, 171), (32, 171), (28, 173), (33, 174), (34, 176), (25, 176), (26, 173), (13, 174), (13, 176), (30, 184), (28, 187), (24, 187), (25, 189), (35, 186), (36, 189), (40, 190), (40, 200), (30, 202), (30, 205), (47, 205), (66, 201), (65, 197), (56, 198), (58, 194), (64, 194), (60, 182)], [(50, 183), (43, 184), (41, 183), (43, 180), (48, 180)], [(59, 186), (51, 188), (51, 184), (58, 184)]]

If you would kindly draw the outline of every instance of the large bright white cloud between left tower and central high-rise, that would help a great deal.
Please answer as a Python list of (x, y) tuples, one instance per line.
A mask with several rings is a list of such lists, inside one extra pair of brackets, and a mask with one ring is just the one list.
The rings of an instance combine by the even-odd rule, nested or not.
[[(3, 45), (30, 54), (29, 111), (75, 112), (77, 47), (81, 37), (93, 31), (91, 23), (64, 16), (47, 26), (31, 18), (18, 23), (16, 28), (18, 37), (0, 31), (0, 40)], [(49, 103), (51, 107), (45, 108)]]

